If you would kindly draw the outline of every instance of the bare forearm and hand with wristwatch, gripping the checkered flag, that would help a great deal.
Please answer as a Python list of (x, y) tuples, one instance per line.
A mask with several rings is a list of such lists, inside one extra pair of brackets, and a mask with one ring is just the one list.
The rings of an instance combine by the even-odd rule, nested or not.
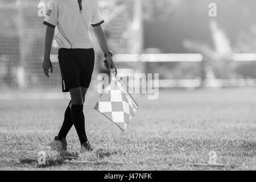
[[(106, 40), (106, 36), (105, 36), (104, 30), (102, 29), (101, 25), (93, 26), (93, 32), (97, 38), (98, 44), (100, 45), (102, 51), (104, 53), (109, 52), (108, 42)], [(108, 65), (109, 65), (108, 69), (114, 68), (115, 72), (117, 73), (117, 67), (115, 67), (112, 56), (108, 55), (106, 57), (106, 60), (108, 61)]]

